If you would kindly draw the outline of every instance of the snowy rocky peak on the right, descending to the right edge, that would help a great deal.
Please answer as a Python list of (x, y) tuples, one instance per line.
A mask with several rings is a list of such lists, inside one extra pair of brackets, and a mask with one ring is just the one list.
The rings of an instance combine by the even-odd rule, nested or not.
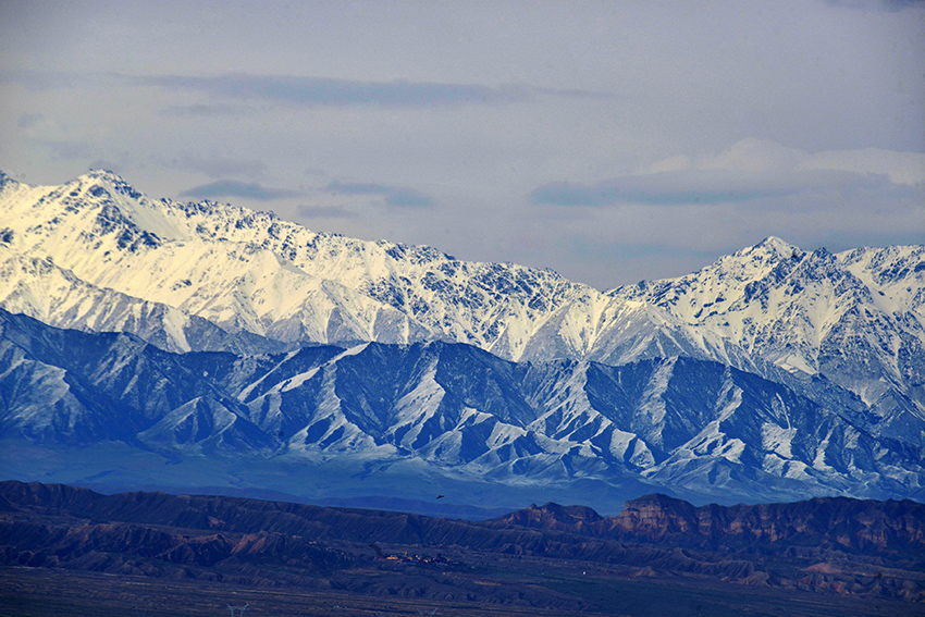
[(925, 247), (804, 252), (778, 238), (679, 279), (609, 293), (858, 394), (881, 431), (925, 443)]

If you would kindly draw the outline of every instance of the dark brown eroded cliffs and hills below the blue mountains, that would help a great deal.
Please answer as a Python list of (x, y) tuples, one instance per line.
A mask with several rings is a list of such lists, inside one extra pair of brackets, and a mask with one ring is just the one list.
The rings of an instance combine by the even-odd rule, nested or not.
[[(656, 494), (627, 503), (616, 517), (547, 503), (493, 520), (465, 521), (240, 497), (102, 495), (0, 482), (0, 565), (5, 566), (367, 589), (363, 568), (388, 578), (395, 565), (397, 578), (390, 578), (388, 585), (400, 591), (411, 584), (399, 560), (385, 559), (383, 551), (451, 554), (459, 560), (458, 572), (468, 571), (466, 563), (486, 558), (519, 563), (529, 557), (525, 563), (536, 569), (550, 560), (581, 560), (589, 570), (592, 565), (596, 571), (619, 568), (622, 580), (677, 582), (683, 572), (747, 585), (925, 602), (925, 504), (913, 502), (819, 498), (695, 507)], [(431, 573), (443, 572), (445, 564)], [(423, 578), (416, 579), (415, 589), (423, 587), (415, 593), (452, 595), (453, 585), (441, 582), (443, 573), (421, 582), (430, 571), (416, 570)], [(479, 584), (472, 582), (470, 591)]]

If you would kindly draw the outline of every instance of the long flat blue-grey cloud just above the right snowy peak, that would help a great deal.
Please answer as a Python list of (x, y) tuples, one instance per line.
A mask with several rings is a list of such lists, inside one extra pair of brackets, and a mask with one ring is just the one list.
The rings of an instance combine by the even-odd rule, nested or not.
[(677, 206), (742, 202), (811, 190), (844, 190), (888, 184), (886, 175), (834, 170), (786, 173), (689, 170), (626, 175), (591, 185), (550, 183), (534, 189), (530, 197), (533, 203), (553, 206)]

